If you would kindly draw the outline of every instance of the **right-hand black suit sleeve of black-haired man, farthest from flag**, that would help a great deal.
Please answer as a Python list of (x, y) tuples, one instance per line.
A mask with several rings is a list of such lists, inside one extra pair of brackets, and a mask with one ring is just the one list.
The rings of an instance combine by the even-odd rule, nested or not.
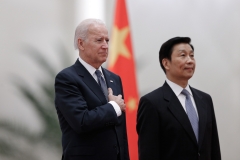
[(210, 103), (212, 106), (212, 160), (221, 160), (221, 151), (218, 138), (217, 122), (214, 113), (214, 107), (212, 98), (210, 97)]

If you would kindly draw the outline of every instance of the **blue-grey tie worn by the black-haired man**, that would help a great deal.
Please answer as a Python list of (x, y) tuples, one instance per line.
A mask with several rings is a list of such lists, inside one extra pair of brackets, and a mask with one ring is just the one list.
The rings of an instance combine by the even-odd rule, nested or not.
[(196, 110), (193, 107), (193, 103), (192, 103), (189, 92), (186, 89), (183, 89), (182, 94), (186, 96), (185, 105), (186, 105), (187, 115), (191, 122), (196, 139), (198, 141), (198, 117), (197, 117)]

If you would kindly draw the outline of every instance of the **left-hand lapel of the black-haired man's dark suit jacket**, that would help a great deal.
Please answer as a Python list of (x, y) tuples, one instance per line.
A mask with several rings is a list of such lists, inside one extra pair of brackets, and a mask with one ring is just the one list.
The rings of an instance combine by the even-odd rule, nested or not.
[(187, 134), (190, 136), (193, 142), (196, 145), (198, 145), (191, 123), (177, 96), (174, 94), (174, 92), (166, 82), (163, 85), (163, 89), (164, 99), (169, 101), (168, 103), (169, 110), (172, 112), (174, 117), (179, 121), (179, 123), (183, 126), (183, 128), (186, 130)]

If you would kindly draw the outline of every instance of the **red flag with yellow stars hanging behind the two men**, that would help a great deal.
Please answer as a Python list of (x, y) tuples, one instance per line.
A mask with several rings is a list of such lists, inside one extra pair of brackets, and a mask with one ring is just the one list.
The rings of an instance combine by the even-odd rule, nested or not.
[(116, 0), (115, 19), (110, 42), (108, 69), (120, 75), (122, 79), (130, 159), (137, 160), (136, 114), (139, 96), (125, 0)]

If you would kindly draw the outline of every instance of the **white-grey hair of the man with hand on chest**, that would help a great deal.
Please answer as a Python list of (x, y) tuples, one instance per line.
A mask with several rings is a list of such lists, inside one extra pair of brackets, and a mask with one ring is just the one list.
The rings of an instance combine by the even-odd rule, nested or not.
[(88, 34), (88, 28), (90, 25), (105, 25), (105, 23), (100, 19), (86, 19), (83, 20), (75, 30), (75, 37), (74, 37), (74, 47), (78, 49), (78, 39), (86, 40)]

